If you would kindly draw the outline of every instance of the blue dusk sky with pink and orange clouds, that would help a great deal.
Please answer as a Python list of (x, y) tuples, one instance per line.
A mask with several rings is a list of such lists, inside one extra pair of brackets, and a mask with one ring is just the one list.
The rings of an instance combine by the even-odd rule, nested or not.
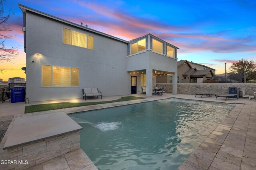
[[(256, 0), (8, 0), (5, 10), (16, 35), (6, 47), (18, 47), (12, 63), (0, 63), (0, 78), (26, 78), (22, 12), (18, 3), (89, 28), (130, 40), (151, 33), (179, 47), (178, 61), (188, 60), (225, 72), (242, 58), (256, 62)], [(47, 29), (47, 28), (46, 28)], [(4, 33), (1, 33), (4, 34)]]

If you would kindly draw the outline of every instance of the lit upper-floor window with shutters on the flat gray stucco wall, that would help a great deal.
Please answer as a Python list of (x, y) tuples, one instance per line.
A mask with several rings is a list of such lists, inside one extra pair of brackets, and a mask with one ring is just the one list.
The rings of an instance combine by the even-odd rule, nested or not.
[(63, 39), (64, 44), (75, 45), (78, 47), (94, 49), (94, 37), (80, 33), (71, 29), (63, 28)]

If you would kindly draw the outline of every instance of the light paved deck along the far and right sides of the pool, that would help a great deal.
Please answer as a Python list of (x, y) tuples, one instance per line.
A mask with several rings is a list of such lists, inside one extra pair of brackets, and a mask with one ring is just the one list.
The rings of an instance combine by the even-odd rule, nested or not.
[[(141, 94), (136, 94), (133, 96), (145, 97), (145, 95)], [(225, 98), (217, 98), (217, 100), (215, 100), (215, 97), (203, 96), (200, 98), (199, 96), (194, 97), (194, 95), (166, 94), (164, 96), (153, 96), (152, 98), (145, 98), (141, 100), (42, 111), (36, 113), (28, 113), (26, 115), (30, 116), (45, 113), (57, 113), (60, 111), (68, 114), (80, 111), (89, 111), (94, 109), (103, 109), (108, 107), (149, 102), (171, 97), (236, 104), (236, 107), (227, 115), (227, 117), (220, 123), (220, 125), (218, 125), (214, 131), (212, 131), (212, 133), (205, 139), (205, 141), (200, 144), (198, 149), (196, 149), (178, 169), (256, 169), (256, 102), (252, 100), (250, 101), (248, 98), (239, 98), (238, 100), (230, 98), (225, 101)], [(116, 100), (118, 98), (120, 98), (120, 96), (111, 97), (112, 100)], [(98, 102), (103, 101), (103, 99), (99, 99), (97, 101), (86, 100), (86, 102)], [(106, 100), (110, 100), (110, 98), (107, 99), (106, 97), (105, 101)], [(85, 102), (84, 100), (76, 100), (74, 102), (78, 101)], [(71, 101), (61, 100), (57, 102)], [(47, 103), (52, 103), (52, 101)], [(33, 104), (42, 104), (42, 102)], [(6, 104), (5, 106), (11, 105)], [(24, 113), (22, 115), (24, 115)], [(3, 144), (1, 143), (0, 147), (2, 145)], [(0, 149), (0, 154), (4, 154), (2, 153), (2, 148)]]

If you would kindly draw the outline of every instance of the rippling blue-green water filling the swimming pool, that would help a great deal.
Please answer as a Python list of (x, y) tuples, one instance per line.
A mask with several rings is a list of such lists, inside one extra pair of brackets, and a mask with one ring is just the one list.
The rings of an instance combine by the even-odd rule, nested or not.
[(234, 108), (170, 98), (70, 117), (80, 147), (100, 170), (175, 170)]

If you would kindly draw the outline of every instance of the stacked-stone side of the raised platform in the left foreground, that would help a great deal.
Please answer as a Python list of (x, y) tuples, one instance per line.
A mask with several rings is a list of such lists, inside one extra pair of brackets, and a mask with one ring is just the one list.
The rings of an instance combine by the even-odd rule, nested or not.
[[(43, 141), (7, 149), (8, 160), (17, 161), (17, 164), (9, 164), (8, 169), (18, 170), (29, 168), (79, 148), (79, 131), (75, 131)], [(25, 160), (28, 160), (28, 164), (18, 164), (18, 160), (23, 160), (24, 163)]]

